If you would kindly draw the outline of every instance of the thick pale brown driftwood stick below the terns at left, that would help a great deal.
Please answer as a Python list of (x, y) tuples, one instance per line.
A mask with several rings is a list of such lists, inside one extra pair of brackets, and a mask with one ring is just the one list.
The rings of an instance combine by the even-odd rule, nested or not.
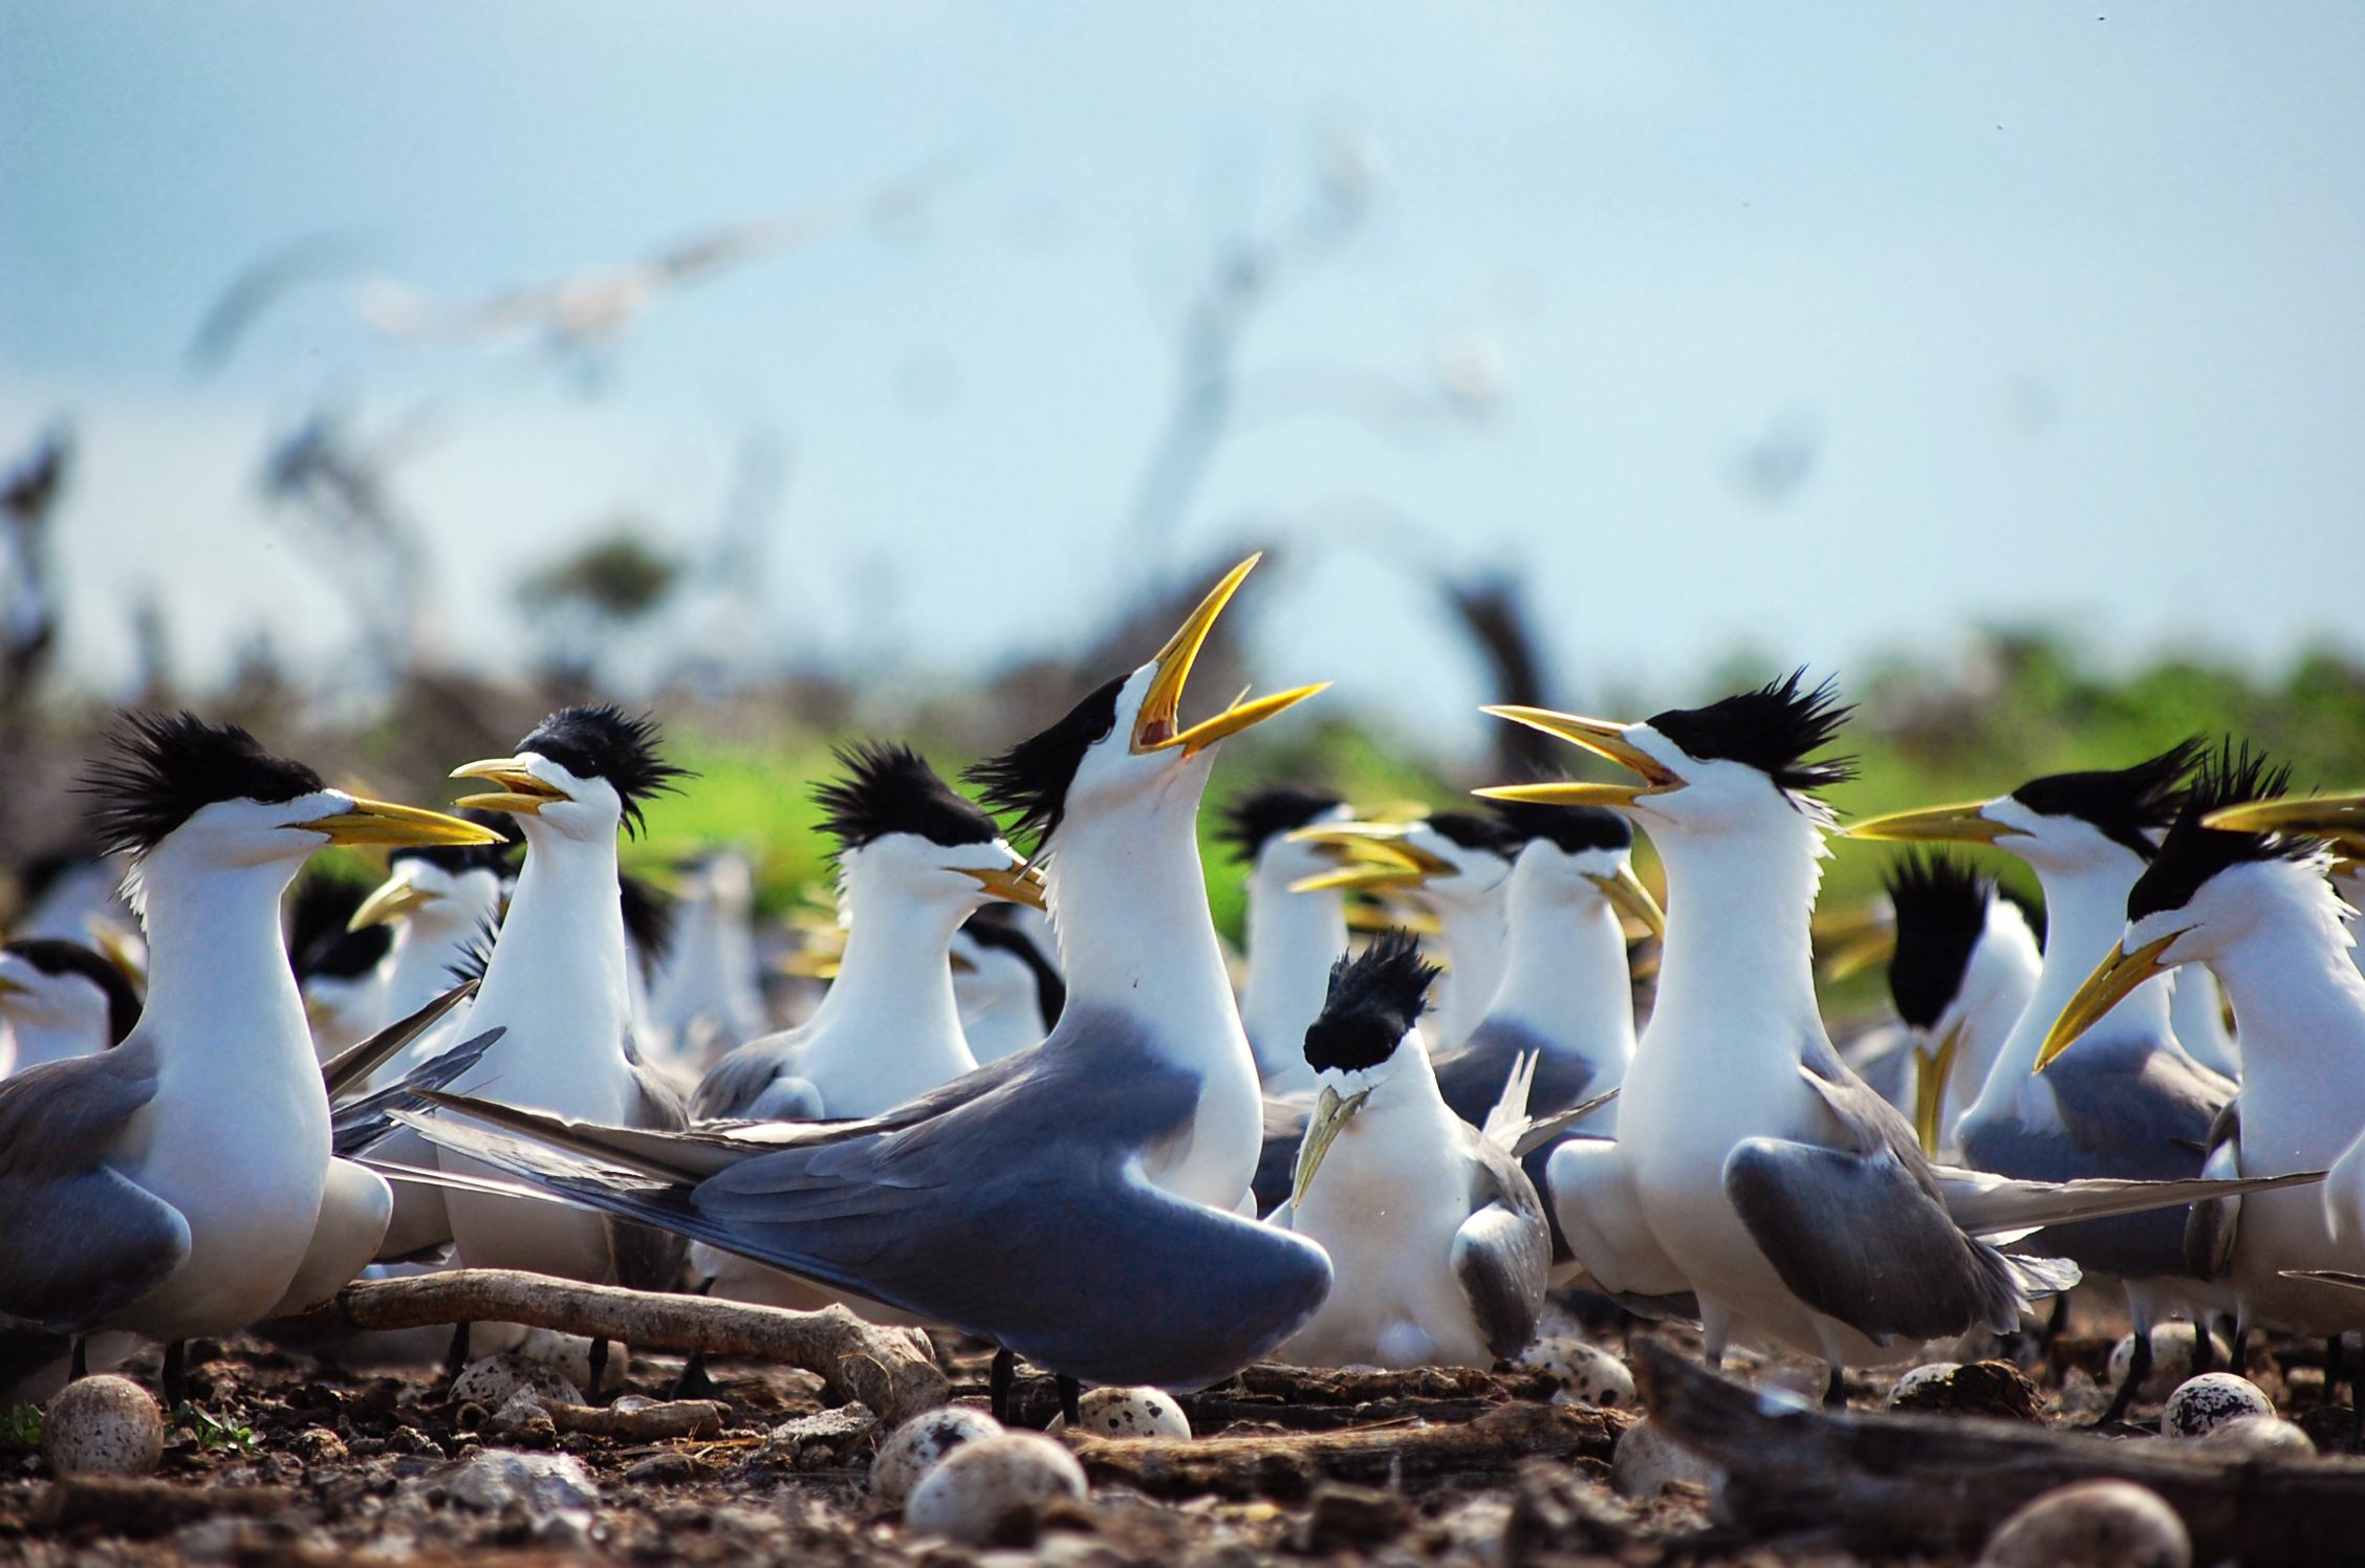
[(409, 1279), (359, 1279), (293, 1320), (305, 1329), (423, 1329), (442, 1322), (523, 1322), (639, 1350), (705, 1350), (804, 1367), (837, 1400), (861, 1400), (889, 1424), (944, 1405), (948, 1384), (913, 1329), (880, 1329), (842, 1305), (818, 1313), (572, 1284), (506, 1268), (459, 1268)]

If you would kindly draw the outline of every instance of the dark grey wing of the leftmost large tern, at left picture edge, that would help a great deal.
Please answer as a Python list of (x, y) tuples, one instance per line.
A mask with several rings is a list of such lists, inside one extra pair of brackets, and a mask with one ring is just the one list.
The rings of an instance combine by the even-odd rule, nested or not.
[(0, 1320), (76, 1334), (189, 1258), (177, 1209), (102, 1164), (156, 1095), (156, 1043), (0, 1081)]

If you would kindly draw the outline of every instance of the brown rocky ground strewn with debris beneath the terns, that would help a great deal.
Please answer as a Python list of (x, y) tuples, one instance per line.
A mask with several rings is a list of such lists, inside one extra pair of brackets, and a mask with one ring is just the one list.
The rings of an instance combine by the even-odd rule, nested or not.
[[(1646, 1339), (1696, 1350), (1665, 1329), (1601, 1343), (1639, 1358)], [(2034, 1379), (1996, 1365), (1923, 1398), (2032, 1428), (2091, 1421), (2110, 1348), (2107, 1334), (2065, 1336)], [(1982, 1350), (1996, 1346), (1963, 1358)], [(958, 1402), (984, 1405), (984, 1355), (939, 1346)], [(452, 1398), (426, 1369), (348, 1374), (265, 1341), (201, 1343), (194, 1410), (170, 1424), (149, 1478), (59, 1480), (31, 1421), (0, 1421), (0, 1563), (1864, 1561), (1722, 1523), (1696, 1464), (1644, 1440), (1618, 1452), (1632, 1395), (1596, 1379), (1585, 1391), (1608, 1405), (1573, 1402), (1566, 1360), (1497, 1374), (1251, 1369), (1182, 1400), (1199, 1433), (1187, 1452), (1081, 1440), (1090, 1497), (1012, 1518), (1000, 1547), (908, 1535), (868, 1495), (877, 1421), (828, 1407), (818, 1376), (726, 1365), (719, 1402), (693, 1410), (665, 1405), (676, 1369), (634, 1362), (603, 1412), (561, 1410), (558, 1386), (537, 1410), (499, 1379)], [(154, 1358), (125, 1372), (154, 1388)], [(1781, 1362), (1738, 1372), (1760, 1386), (1821, 1376)], [(2325, 1447), (2346, 1440), (2348, 1412), (2322, 1407), (2320, 1346), (2254, 1346), (2249, 1374)], [(1892, 1381), (1852, 1376), (1849, 1402), (1878, 1410)], [(1022, 1379), (1022, 1424), (1052, 1410), (1050, 1381)], [(2157, 1414), (2150, 1398), (2136, 1421), (2157, 1428)], [(2159, 1443), (2140, 1426), (2112, 1436)]]

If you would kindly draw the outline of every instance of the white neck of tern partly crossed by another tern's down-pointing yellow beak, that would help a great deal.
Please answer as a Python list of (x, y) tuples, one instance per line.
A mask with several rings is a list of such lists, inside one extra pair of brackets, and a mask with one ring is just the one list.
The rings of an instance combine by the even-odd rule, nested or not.
[[(2053, 1019), (2126, 929), (2126, 894), (2143, 875), (2143, 861), (2133, 849), (2112, 844), (2102, 858), (2086, 866), (2050, 870), (2036, 866), (2034, 870), (2036, 885), (2046, 894), (2046, 960), (2036, 972), (2029, 1005), (2020, 1010), (2013, 1034), (2006, 1036), (2003, 1050), (1996, 1052), (1996, 1064), (1987, 1071), (1987, 1083), (1970, 1107), (1970, 1114), (1977, 1116), (1998, 1116), (2041, 1093), (2036, 1052), (2043, 1048)], [(2169, 984), (2164, 979), (2143, 981), (2088, 1034), (2100, 1038), (2173, 1038)]]

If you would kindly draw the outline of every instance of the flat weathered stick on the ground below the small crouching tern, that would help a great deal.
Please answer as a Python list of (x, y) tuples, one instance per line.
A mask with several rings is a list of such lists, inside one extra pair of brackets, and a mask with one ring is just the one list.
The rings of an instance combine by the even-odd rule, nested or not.
[(1095, 1485), (1149, 1497), (1277, 1497), (1320, 1480), (1419, 1492), (1445, 1480), (1509, 1478), (1523, 1459), (1608, 1459), (1634, 1417), (1568, 1405), (1502, 1405), (1454, 1426), (1358, 1426), (1275, 1438), (1083, 1438), (1069, 1447)]

